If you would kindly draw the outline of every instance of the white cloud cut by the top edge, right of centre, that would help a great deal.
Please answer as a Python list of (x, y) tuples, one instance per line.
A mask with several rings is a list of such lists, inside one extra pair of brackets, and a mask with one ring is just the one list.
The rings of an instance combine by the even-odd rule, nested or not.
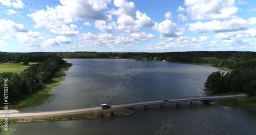
[(223, 20), (237, 13), (235, 0), (185, 0), (185, 11), (195, 20)]

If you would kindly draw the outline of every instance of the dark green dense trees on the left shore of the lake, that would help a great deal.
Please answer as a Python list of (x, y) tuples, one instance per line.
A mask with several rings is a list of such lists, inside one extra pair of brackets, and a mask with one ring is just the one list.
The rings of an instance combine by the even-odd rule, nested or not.
[[(23, 56), (25, 57), (26, 54), (23, 54)], [(45, 58), (48, 59), (42, 61), (41, 63), (29, 66), (28, 69), (24, 70), (19, 74), (13, 72), (0, 73), (0, 88), (4, 91), (4, 89), (8, 87), (8, 101), (15, 102), (22, 100), (24, 97), (40, 89), (40, 87), (44, 86), (45, 83), (47, 83), (51, 79), (52, 75), (59, 68), (59, 65), (65, 62), (64, 60), (62, 60), (61, 57), (58, 57), (56, 55), (54, 56), (50, 54), (49, 56), (41, 56), (42, 57), (35, 62), (40, 62), (40, 60), (43, 60)], [(8, 80), (6, 81), (6, 79)], [(5, 81), (7, 83), (5, 83)], [(4, 93), (0, 93), (0, 104), (3, 104), (3, 102)]]

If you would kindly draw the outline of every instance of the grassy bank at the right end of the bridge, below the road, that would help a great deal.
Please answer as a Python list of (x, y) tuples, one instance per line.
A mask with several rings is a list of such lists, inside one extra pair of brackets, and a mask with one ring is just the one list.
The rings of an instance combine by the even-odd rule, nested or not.
[(219, 99), (217, 103), (226, 106), (239, 106), (246, 110), (252, 110), (256, 112), (256, 103), (251, 102), (250, 98)]

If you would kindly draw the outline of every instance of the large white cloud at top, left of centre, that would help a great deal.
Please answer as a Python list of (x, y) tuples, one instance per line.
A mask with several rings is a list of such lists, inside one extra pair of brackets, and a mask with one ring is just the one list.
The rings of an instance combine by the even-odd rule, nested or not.
[[(106, 15), (101, 10), (107, 8), (110, 0), (88, 1), (82, 0), (60, 0), (61, 5), (56, 7), (46, 7), (46, 10), (36, 10), (29, 14), (35, 22), (35, 28), (45, 27), (55, 34), (60, 35), (76, 35), (79, 32), (74, 31), (74, 25), (71, 29), (66, 24), (77, 20), (95, 19), (95, 20), (110, 20), (111, 15)], [(87, 24), (89, 25), (89, 24)]]

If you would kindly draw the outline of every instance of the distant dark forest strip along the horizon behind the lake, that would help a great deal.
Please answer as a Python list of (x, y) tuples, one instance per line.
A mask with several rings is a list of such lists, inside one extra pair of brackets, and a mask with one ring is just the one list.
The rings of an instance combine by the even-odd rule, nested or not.
[(169, 53), (97, 53), (97, 52), (57, 52), (57, 53), (5, 53), (0, 52), (0, 62), (42, 62), (57, 55), (62, 58), (131, 58), (170, 62), (208, 63), (228, 69), (255, 67), (256, 52), (169, 52)]

